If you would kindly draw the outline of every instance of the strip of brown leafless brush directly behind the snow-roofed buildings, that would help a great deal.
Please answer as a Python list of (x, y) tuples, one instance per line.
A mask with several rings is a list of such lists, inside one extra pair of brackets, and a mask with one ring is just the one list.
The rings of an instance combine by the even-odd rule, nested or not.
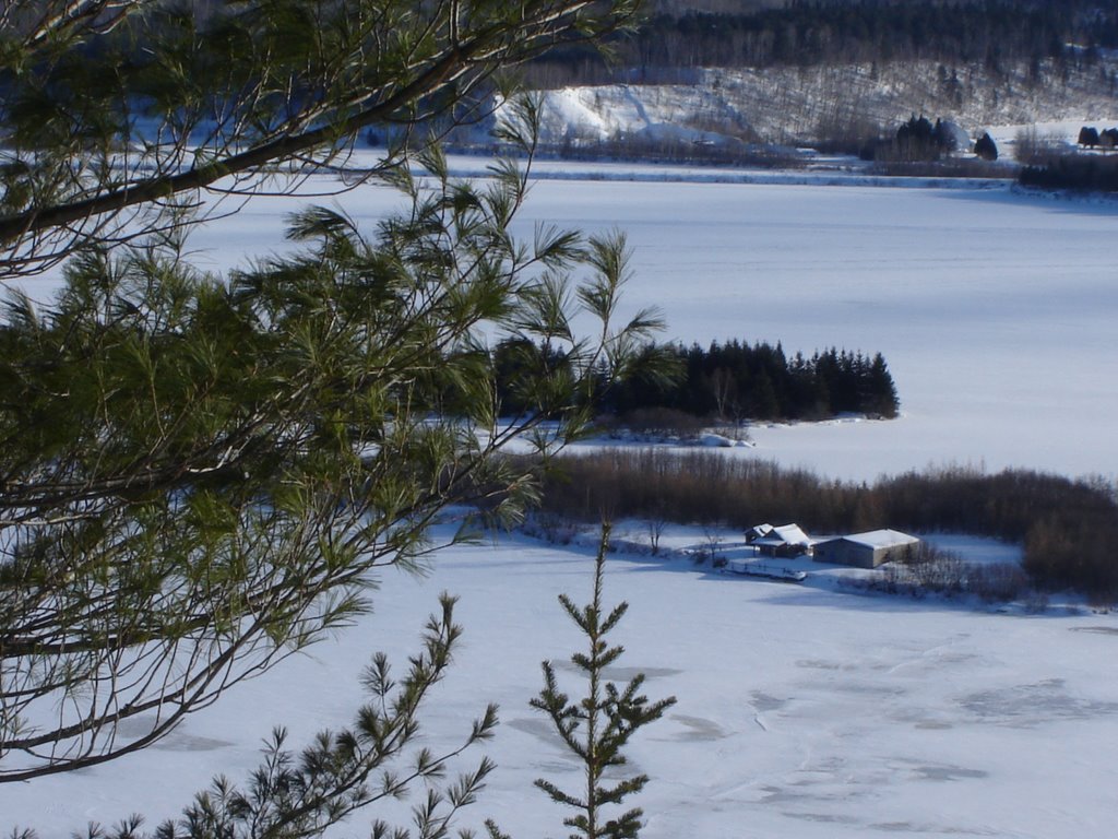
[(1030, 470), (910, 472), (869, 483), (714, 452), (616, 447), (569, 458), (547, 479), (542, 509), (579, 520), (639, 518), (745, 528), (795, 521), (811, 534), (891, 527), (1022, 544), (1046, 591), (1118, 600), (1118, 499), (1112, 483)]

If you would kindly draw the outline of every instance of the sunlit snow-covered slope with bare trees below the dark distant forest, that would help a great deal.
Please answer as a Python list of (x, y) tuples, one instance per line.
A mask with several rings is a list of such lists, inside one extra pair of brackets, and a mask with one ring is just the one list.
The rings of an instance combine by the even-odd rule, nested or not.
[(565, 87), (544, 94), (542, 139), (568, 150), (609, 141), (634, 149), (805, 144), (872, 136), (913, 113), (949, 119), (972, 136), (1006, 124), (1118, 122), (1118, 58), (1032, 70), (1025, 63), (999, 73), (935, 62), (849, 64), (707, 69), (686, 84)]

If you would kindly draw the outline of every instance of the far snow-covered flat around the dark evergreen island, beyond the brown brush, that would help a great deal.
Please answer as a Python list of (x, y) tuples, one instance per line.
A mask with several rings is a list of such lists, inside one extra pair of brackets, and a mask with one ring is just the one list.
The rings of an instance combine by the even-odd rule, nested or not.
[[(860, 480), (945, 464), (1118, 475), (1118, 202), (965, 181), (537, 170), (544, 178), (518, 229), (626, 232), (626, 311), (659, 307), (664, 338), (884, 355), (900, 420), (755, 428), (746, 456)], [(383, 187), (341, 200), (370, 229), (399, 206)], [(266, 253), (280, 245), (276, 217), (291, 210), (275, 207), (257, 201), (192, 243), (215, 266)]]

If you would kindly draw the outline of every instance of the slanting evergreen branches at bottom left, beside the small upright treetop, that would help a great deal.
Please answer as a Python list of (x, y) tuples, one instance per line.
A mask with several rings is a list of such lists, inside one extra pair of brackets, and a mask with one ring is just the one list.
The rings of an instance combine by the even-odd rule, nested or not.
[[(287, 734), (276, 728), (263, 752), (264, 761), (247, 783), (224, 775), (199, 792), (178, 820), (168, 820), (154, 832), (143, 829), (143, 818), (131, 816), (117, 824), (92, 824), (87, 839), (265, 839), (316, 837), (354, 811), (388, 799), (401, 799), (413, 788), (426, 794), (413, 808), (417, 837), (449, 836), (459, 811), (472, 803), (493, 770), (487, 758), (459, 774), (445, 776), (451, 762), (487, 741), (496, 726), (490, 706), (474, 722), (463, 743), (436, 755), (417, 747), (420, 710), (430, 689), (446, 673), (462, 634), (454, 623), (454, 598), (443, 595), (438, 614), (427, 621), (423, 650), (408, 659), (399, 680), (392, 677), (383, 653), (373, 656), (362, 675), (370, 700), (359, 708), (352, 726), (322, 730), (296, 756), (286, 746)], [(31, 839), (35, 833), (21, 835)], [(375, 820), (373, 839), (409, 839), (408, 829)]]

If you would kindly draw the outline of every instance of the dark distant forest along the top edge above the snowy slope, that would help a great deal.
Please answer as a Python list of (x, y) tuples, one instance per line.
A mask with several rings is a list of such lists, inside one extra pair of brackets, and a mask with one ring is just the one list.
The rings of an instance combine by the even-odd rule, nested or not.
[[(529, 68), (540, 86), (656, 81), (664, 70), (932, 59), (1046, 58), (1090, 63), (1118, 46), (1118, 9), (1089, 0), (790, 0), (784, 8), (701, 11), (661, 3), (633, 36), (614, 45), (607, 67), (591, 50), (550, 53)], [(717, 8), (717, 6), (714, 7)], [(1076, 49), (1069, 48), (1076, 45)]]

